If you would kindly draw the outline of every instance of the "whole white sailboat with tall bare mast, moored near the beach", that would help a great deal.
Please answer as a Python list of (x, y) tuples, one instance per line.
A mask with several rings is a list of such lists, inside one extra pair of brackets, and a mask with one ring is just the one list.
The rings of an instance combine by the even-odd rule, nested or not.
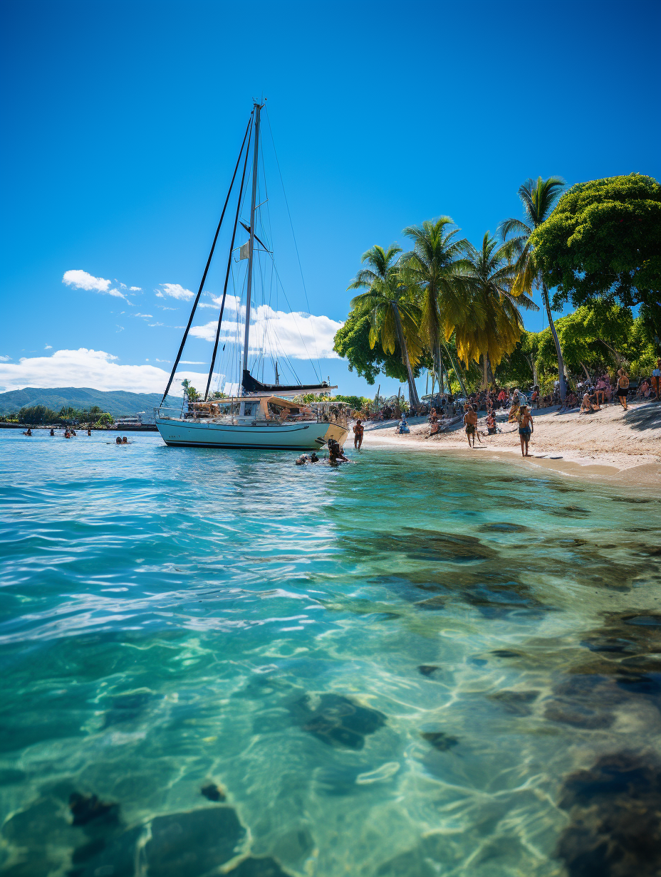
[[(263, 244), (262, 240), (255, 233), (256, 210), (261, 206), (256, 203), (256, 199), (261, 112), (263, 107), (264, 104), (259, 101), (255, 101), (253, 105), (241, 144), (239, 158), (234, 168), (232, 182), (230, 182), (211, 252), (206, 262), (205, 272), (199, 285), (198, 295), (190, 311), (188, 325), (183, 333), (179, 352), (176, 355), (175, 364), (169, 376), (168, 386), (163, 393), (161, 404), (154, 409), (156, 427), (166, 445), (307, 451), (319, 450), (327, 445), (331, 439), (338, 441), (342, 445), (348, 435), (348, 407), (344, 403), (329, 401), (328, 399), (302, 403), (298, 399), (300, 396), (327, 396), (331, 390), (337, 389), (336, 387), (331, 387), (326, 381), (320, 381), (316, 384), (283, 385), (279, 382), (277, 360), (275, 363), (276, 382), (273, 384), (258, 380), (254, 374), (250, 373), (248, 368), (250, 313), (255, 285), (255, 242), (262, 246), (262, 252), (269, 252), (268, 247)], [(250, 219), (247, 225), (241, 222), (240, 215), (249, 154), (252, 154), (252, 189)], [(202, 296), (209, 267), (212, 264), (213, 253), (219, 239), (219, 232), (225, 219), (227, 204), (230, 201), (234, 182), (241, 166), (241, 158), (243, 158), (241, 184), (205, 396), (203, 400), (198, 402), (185, 401), (181, 410), (169, 408), (164, 403), (172, 381), (175, 378), (176, 369), (181, 360), (186, 339), (189, 336), (193, 317), (198, 309), (200, 296)], [(248, 241), (240, 248), (241, 260), (248, 259), (246, 312), (241, 351), (241, 383), (238, 393), (234, 392), (231, 396), (222, 396), (216, 393), (210, 397), (213, 368), (218, 354), (221, 325), (226, 309), (227, 288), (231, 275), (234, 244), (240, 226), (245, 232), (248, 232)]]

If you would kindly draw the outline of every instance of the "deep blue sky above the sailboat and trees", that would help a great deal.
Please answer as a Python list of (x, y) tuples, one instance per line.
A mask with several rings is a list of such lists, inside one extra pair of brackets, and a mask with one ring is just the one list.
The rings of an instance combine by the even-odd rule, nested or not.
[[(198, 289), (254, 96), (269, 98), (309, 310), (335, 322), (361, 253), (404, 244), (406, 225), (448, 214), (477, 244), (520, 215), (528, 176), (661, 175), (657, 0), (11, 0), (2, 14), (7, 389), (158, 389), (190, 309), (154, 290)], [(308, 310), (275, 201), (280, 275)], [(140, 291), (77, 289), (71, 270)], [(108, 356), (54, 357), (81, 348)], [(184, 359), (210, 353), (193, 339)], [(321, 371), (376, 389), (342, 360)]]

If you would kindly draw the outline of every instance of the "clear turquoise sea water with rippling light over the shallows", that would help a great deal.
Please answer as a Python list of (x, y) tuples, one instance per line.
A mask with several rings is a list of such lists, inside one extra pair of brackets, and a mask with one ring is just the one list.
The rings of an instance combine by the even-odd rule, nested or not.
[(4, 873), (578, 873), (567, 776), (661, 748), (657, 496), (107, 441), (0, 435)]

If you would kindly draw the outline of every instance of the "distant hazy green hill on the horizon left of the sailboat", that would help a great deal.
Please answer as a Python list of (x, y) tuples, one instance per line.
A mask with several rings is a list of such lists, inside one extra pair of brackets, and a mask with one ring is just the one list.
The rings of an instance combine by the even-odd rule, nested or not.
[[(88, 409), (92, 405), (98, 405), (104, 411), (110, 411), (112, 417), (121, 417), (125, 414), (136, 414), (138, 411), (146, 411), (152, 417), (155, 405), (161, 402), (160, 393), (128, 393), (126, 390), (90, 389), (90, 387), (55, 387), (44, 388), (25, 387), (25, 389), (12, 389), (9, 393), (0, 393), (0, 415), (13, 414), (24, 405), (47, 405), (55, 411), (59, 411), (62, 405), (72, 408)], [(181, 397), (168, 396), (166, 402), (169, 405), (180, 406)]]

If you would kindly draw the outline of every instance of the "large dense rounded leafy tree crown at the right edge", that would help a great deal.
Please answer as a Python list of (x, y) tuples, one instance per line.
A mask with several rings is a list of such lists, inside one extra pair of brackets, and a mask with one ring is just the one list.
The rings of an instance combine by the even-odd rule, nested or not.
[(534, 232), (531, 246), (554, 306), (596, 296), (641, 305), (661, 345), (661, 185), (629, 174), (581, 182), (566, 191)]

